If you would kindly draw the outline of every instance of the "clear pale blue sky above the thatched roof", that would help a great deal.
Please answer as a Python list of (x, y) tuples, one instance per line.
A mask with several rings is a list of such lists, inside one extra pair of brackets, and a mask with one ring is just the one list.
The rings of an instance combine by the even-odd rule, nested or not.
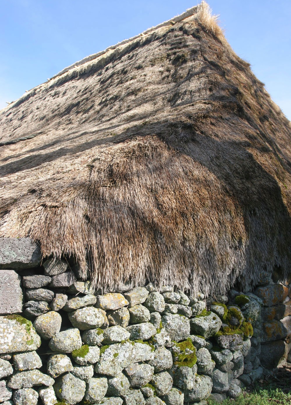
[[(0, 109), (64, 67), (197, 0), (0, 0)], [(291, 119), (291, 0), (208, 0), (230, 45)]]

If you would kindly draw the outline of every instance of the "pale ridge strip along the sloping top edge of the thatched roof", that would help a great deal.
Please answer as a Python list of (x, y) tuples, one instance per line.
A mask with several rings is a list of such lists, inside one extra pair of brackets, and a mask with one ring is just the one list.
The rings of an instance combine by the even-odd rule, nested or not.
[(177, 22), (179, 22), (179, 21), (182, 21), (182, 20), (185, 19), (185, 18), (191, 17), (191, 15), (196, 14), (196, 13), (198, 12), (198, 10), (199, 10), (199, 5), (193, 6), (193, 7), (191, 7), (190, 9), (187, 9), (184, 13), (179, 14), (179, 15), (177, 15), (176, 17), (171, 18), (170, 20), (164, 21), (163, 23), (158, 24), (158, 25), (155, 26), (155, 27), (148, 28), (147, 30), (145, 30), (144, 32), (142, 32), (142, 33), (140, 33), (140, 34), (138, 34), (138, 35), (136, 35), (136, 36), (132, 36), (131, 38), (128, 38), (128, 39), (125, 39), (125, 40), (123, 40), (123, 41), (121, 41), (121, 42), (118, 42), (118, 43), (115, 44), (115, 45), (110, 45), (110, 47), (104, 49), (103, 51), (100, 51), (100, 52), (97, 52), (97, 53), (93, 53), (92, 55), (86, 56), (85, 58), (83, 58), (83, 59), (81, 59), (81, 60), (79, 60), (79, 61), (73, 63), (73, 64), (70, 65), (70, 66), (67, 66), (67, 67), (64, 68), (64, 69), (62, 69), (60, 72), (58, 72), (56, 75), (52, 76), (52, 77), (51, 77), (50, 79), (48, 79), (48, 80), (55, 79), (55, 77), (61, 76), (61, 75), (63, 75), (64, 73), (68, 72), (69, 70), (71, 70), (71, 69), (73, 69), (73, 68), (76, 68), (76, 67), (78, 67), (78, 66), (81, 66), (81, 65), (83, 65), (83, 64), (85, 64), (85, 63), (87, 63), (87, 62), (90, 62), (91, 60), (96, 59), (96, 58), (98, 58), (99, 56), (104, 55), (104, 53), (106, 53), (106, 52), (108, 52), (108, 51), (111, 51), (111, 50), (113, 50), (113, 49), (116, 49), (116, 48), (118, 48), (118, 47), (121, 46), (121, 45), (125, 45), (125, 44), (127, 44), (127, 43), (129, 43), (129, 42), (131, 42), (131, 41), (134, 41), (135, 39), (139, 38), (140, 36), (149, 34), (150, 32), (153, 32), (153, 31), (155, 31), (155, 30), (158, 30), (159, 28), (162, 28), (162, 27), (166, 27), (166, 26), (168, 26), (168, 25), (170, 25), (170, 24), (174, 25), (175, 23), (177, 23)]

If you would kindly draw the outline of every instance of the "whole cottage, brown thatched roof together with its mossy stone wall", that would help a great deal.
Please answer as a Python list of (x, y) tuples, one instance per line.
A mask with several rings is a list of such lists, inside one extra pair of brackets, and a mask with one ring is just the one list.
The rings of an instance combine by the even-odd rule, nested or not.
[(9, 104), (0, 151), (0, 401), (195, 403), (288, 358), (290, 122), (205, 2)]

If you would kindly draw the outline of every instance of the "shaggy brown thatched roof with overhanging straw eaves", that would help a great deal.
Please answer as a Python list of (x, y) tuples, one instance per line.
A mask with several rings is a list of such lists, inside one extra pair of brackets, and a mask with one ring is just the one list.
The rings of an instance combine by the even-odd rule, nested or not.
[(286, 275), (290, 123), (207, 5), (86, 60), (0, 112), (0, 235), (104, 288)]

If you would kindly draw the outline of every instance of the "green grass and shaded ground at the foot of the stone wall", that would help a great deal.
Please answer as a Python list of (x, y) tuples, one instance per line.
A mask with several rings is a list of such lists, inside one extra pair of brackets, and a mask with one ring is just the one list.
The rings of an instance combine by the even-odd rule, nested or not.
[[(208, 399), (208, 405), (219, 405)], [(259, 380), (253, 387), (244, 390), (236, 399), (225, 399), (220, 405), (290, 405), (291, 371)]]

